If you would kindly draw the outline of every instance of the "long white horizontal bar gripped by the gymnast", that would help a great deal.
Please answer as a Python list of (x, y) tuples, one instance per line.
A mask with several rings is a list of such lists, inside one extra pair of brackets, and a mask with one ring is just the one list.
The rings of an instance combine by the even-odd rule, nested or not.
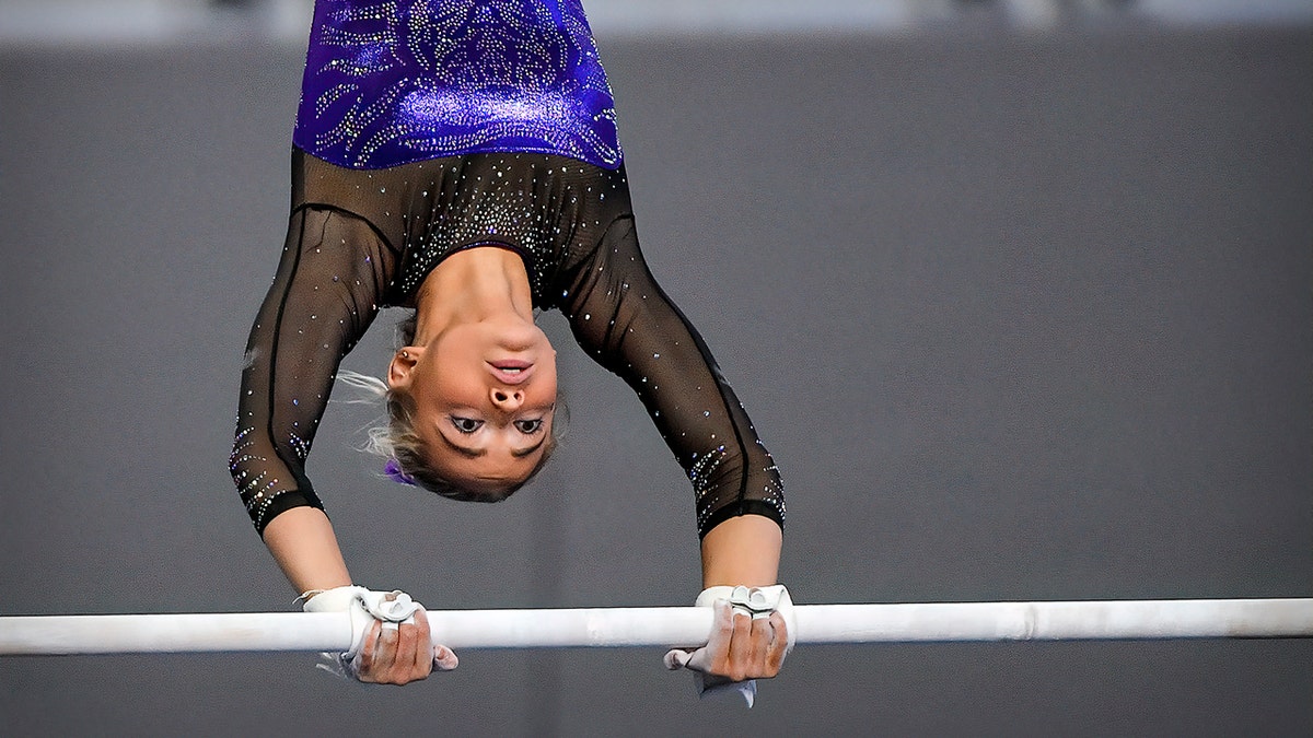
[[(1310, 638), (1313, 597), (797, 605), (798, 643)], [(461, 649), (697, 646), (710, 608), (429, 611)], [(0, 655), (341, 651), (345, 613), (0, 617)]]

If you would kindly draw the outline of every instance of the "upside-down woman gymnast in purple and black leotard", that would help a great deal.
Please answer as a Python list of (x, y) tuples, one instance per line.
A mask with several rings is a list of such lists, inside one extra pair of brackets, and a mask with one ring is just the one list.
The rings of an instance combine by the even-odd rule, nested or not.
[(412, 309), (374, 436), (399, 482), (499, 502), (555, 445), (558, 309), (637, 393), (692, 481), (710, 642), (672, 650), (700, 691), (775, 676), (779, 471), (697, 331), (643, 263), (616, 113), (579, 0), (316, 0), (293, 134), (291, 215), (247, 343), (230, 469), (307, 611), (351, 611), (361, 682), (450, 670), (424, 611), (353, 586), (305, 474), (341, 358)]

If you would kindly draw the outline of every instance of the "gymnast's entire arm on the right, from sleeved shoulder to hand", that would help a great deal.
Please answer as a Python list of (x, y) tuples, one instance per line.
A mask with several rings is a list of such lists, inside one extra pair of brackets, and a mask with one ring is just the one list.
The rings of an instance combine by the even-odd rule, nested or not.
[(716, 630), (704, 649), (672, 651), (667, 666), (692, 668), (708, 685), (775, 676), (790, 641), (786, 619), (771, 607), (727, 604), (743, 599), (731, 596), (735, 587), (786, 600), (773, 587), (784, 528), (775, 461), (710, 349), (649, 272), (630, 218), (612, 223), (566, 280), (561, 309), (579, 345), (634, 390), (693, 485), (704, 584), (697, 604), (717, 608)]

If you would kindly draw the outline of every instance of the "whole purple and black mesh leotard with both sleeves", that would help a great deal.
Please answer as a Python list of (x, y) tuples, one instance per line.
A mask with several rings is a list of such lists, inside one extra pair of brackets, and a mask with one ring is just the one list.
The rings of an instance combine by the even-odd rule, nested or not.
[[(578, 0), (319, 0), (291, 217), (247, 341), (230, 456), (255, 523), (323, 503), (306, 461), (337, 368), (452, 253), (524, 259), (534, 307), (624, 380), (693, 485), (697, 531), (784, 525), (784, 487), (642, 251)], [(586, 391), (586, 390), (583, 390)]]

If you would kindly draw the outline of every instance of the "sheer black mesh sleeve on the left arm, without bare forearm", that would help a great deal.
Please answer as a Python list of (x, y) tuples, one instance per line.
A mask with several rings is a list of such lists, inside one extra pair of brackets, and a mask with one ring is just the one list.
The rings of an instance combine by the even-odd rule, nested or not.
[(369, 225), (324, 207), (293, 213), (278, 272), (247, 341), (228, 467), (261, 533), (278, 513), (322, 508), (305, 464), (341, 358), (378, 314), (395, 257)]

